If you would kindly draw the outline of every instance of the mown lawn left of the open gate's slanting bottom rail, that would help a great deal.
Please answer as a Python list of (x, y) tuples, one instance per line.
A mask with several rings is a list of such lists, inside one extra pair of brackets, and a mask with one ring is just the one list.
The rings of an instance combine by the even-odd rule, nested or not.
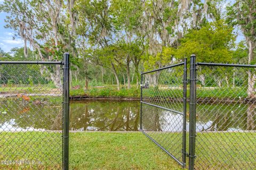
[[(50, 135), (54, 140), (51, 140)], [(46, 140), (46, 137), (50, 137), (50, 140)], [(0, 148), (0, 160), (6, 159), (3, 148), (7, 147), (10, 160), (40, 160), (42, 156), (44, 161), (48, 160), (48, 165), (26, 166), (25, 169), (60, 169), (60, 133), (0, 132), (0, 143), (6, 144)], [(25, 144), (27, 146), (21, 147)], [(13, 153), (18, 156), (14, 157)], [(70, 133), (69, 153), (70, 169), (181, 169), (141, 132)], [(50, 157), (54, 159), (49, 159)], [(18, 168), (24, 169), (22, 166), (0, 164), (0, 169)]]

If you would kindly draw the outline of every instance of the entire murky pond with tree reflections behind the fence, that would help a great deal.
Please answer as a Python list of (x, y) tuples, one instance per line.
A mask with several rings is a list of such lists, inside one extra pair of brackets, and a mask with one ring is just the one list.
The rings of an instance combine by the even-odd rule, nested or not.
[[(49, 102), (50, 103), (50, 102)], [(174, 106), (175, 105), (175, 106)], [(61, 104), (0, 100), (0, 131), (61, 130)], [(177, 107), (172, 104), (169, 107)], [(182, 103), (179, 104), (182, 107)], [(143, 128), (182, 131), (182, 115), (143, 104)], [(256, 130), (256, 105), (201, 104), (197, 107), (197, 131)], [(181, 109), (181, 108), (180, 108)], [(147, 113), (147, 114), (146, 114)], [(187, 130), (188, 130), (187, 113)], [(82, 100), (70, 103), (70, 130), (138, 131), (140, 101)]]

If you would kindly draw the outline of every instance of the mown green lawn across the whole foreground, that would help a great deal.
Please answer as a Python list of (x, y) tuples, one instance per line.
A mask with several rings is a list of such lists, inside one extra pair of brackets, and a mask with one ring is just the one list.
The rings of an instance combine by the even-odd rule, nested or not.
[[(0, 151), (0, 158), (3, 160), (3, 153), (11, 156), (14, 153), (22, 153), (15, 160), (28, 158), (34, 159), (44, 157), (49, 166), (37, 166), (30, 169), (57, 169), (61, 162), (60, 148), (61, 137), (57, 133), (0, 133), (0, 143), (5, 143), (8, 149)], [(47, 140), (46, 140), (47, 134)], [(173, 137), (173, 134), (170, 134)], [(5, 135), (5, 137), (4, 137)], [(58, 139), (56, 140), (56, 136)], [(168, 133), (165, 133), (166, 138)], [(196, 163), (206, 169), (214, 165), (223, 169), (230, 169), (237, 163), (250, 167), (250, 155), (255, 150), (255, 133), (198, 133), (197, 139), (204, 139), (204, 143), (197, 145)], [(8, 137), (8, 138), (7, 138)], [(54, 140), (53, 140), (54, 139)], [(173, 139), (173, 138), (172, 138)], [(235, 139), (239, 139), (237, 142)], [(181, 147), (177, 140), (168, 140), (169, 146)], [(229, 148), (223, 143), (228, 143)], [(243, 145), (242, 145), (243, 143)], [(198, 144), (198, 143), (197, 143)], [(242, 146), (242, 148), (241, 148)], [(172, 149), (172, 147), (170, 149)], [(1, 147), (2, 149), (4, 147)], [(218, 148), (218, 149), (217, 149)], [(10, 149), (10, 150), (9, 150)], [(177, 149), (177, 148), (175, 148)], [(239, 151), (239, 152), (238, 152)], [(221, 153), (221, 156), (218, 155)], [(2, 157), (1, 157), (2, 155)], [(48, 158), (56, 158), (48, 159)], [(59, 162), (57, 161), (59, 160)], [(14, 166), (0, 165), (1, 169), (16, 169)], [(140, 132), (77, 132), (70, 133), (70, 169), (181, 169), (172, 158), (167, 156), (153, 142)]]

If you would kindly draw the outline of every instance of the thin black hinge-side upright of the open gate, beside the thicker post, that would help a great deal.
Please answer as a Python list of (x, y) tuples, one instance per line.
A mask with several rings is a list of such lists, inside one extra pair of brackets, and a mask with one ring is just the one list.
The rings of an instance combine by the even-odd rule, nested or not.
[(183, 134), (182, 134), (182, 162), (183, 168), (186, 167), (186, 133), (187, 133), (187, 58), (184, 60), (183, 70)]

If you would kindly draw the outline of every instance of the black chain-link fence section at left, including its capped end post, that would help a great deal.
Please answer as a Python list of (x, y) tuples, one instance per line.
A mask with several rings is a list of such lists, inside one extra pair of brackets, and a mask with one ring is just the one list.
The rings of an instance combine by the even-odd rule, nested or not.
[(0, 62), (0, 169), (68, 169), (69, 54)]

